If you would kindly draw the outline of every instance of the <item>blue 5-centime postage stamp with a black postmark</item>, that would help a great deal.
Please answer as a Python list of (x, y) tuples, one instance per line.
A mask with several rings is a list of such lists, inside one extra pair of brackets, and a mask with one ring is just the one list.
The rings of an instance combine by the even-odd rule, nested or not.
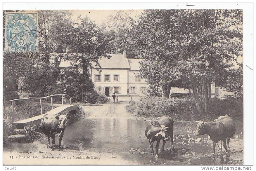
[(5, 51), (37, 52), (38, 13), (5, 13)]

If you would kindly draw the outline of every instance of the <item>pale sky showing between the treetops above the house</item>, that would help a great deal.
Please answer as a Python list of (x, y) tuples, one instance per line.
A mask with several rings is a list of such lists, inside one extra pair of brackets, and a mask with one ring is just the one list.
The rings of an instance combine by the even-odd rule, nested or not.
[[(81, 14), (82, 18), (84, 16), (88, 16), (92, 21), (94, 21), (97, 25), (101, 25), (109, 15), (115, 13), (115, 11), (120, 10), (70, 10), (73, 14), (72, 20), (76, 20), (76, 18)], [(138, 18), (143, 10), (122, 10), (127, 15), (132, 17), (134, 20)]]

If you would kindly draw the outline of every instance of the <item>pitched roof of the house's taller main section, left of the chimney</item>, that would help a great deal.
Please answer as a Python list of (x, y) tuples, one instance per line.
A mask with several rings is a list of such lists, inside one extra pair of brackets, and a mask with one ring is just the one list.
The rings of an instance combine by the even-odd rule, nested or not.
[[(124, 58), (124, 55), (122, 54), (109, 54), (111, 57), (108, 58), (100, 58), (98, 60), (101, 68), (118, 68), (118, 69), (129, 69), (130, 65), (127, 58)], [(99, 68), (99, 66), (96, 66), (96, 64), (93, 62), (92, 66), (94, 68)]]

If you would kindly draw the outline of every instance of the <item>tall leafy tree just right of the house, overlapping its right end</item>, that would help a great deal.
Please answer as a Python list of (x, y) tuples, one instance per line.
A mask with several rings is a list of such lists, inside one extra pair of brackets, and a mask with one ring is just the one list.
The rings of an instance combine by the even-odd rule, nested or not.
[(162, 97), (169, 98), (170, 89), (180, 77), (177, 69), (177, 47), (173, 39), (178, 35), (175, 28), (175, 14), (172, 10), (146, 10), (138, 19), (136, 47), (139, 57), (145, 59), (141, 63), (141, 77), (152, 87), (159, 85)]

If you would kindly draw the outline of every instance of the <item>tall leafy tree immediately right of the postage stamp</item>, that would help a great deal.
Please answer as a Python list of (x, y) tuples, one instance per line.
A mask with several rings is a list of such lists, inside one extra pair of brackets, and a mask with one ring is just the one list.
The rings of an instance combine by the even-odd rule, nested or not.
[(63, 53), (70, 43), (71, 13), (67, 10), (42, 10), (39, 16), (40, 58), (42, 65), (52, 70), (52, 80), (55, 82)]

